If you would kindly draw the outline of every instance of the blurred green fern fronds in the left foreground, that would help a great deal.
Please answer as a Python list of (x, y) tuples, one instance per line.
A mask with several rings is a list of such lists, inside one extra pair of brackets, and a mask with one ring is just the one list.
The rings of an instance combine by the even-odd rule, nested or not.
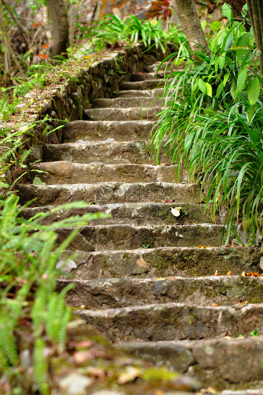
[[(50, 213), (38, 213), (25, 219), (21, 216), (22, 209), (32, 202), (19, 207), (18, 200), (11, 194), (0, 202), (0, 371), (12, 374), (11, 367), (19, 365), (19, 354), (24, 348), (21, 320), (26, 320), (31, 323), (35, 380), (39, 391), (47, 394), (48, 363), (43, 350), (48, 344), (58, 344), (58, 353), (64, 350), (67, 322), (71, 316), (71, 308), (65, 305), (64, 298), (72, 285), (56, 292), (56, 277), (61, 273), (56, 264), (79, 226), (108, 215), (87, 213), (44, 226), (39, 222)], [(70, 203), (52, 212), (87, 206), (83, 202)], [(57, 246), (55, 228), (61, 226), (76, 228)]]

